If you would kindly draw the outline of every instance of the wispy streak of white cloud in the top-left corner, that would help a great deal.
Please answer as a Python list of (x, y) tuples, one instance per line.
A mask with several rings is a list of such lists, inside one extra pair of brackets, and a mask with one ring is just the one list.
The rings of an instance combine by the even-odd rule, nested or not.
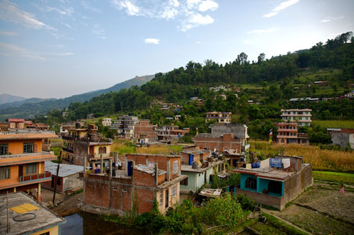
[(56, 30), (42, 21), (38, 21), (33, 13), (22, 11), (16, 4), (4, 0), (0, 2), (0, 18), (23, 25), (28, 28)]

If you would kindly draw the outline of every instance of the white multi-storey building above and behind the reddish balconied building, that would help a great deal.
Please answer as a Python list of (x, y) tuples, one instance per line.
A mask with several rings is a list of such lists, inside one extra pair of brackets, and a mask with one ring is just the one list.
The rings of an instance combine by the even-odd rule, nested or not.
[(297, 122), (299, 127), (311, 126), (311, 109), (282, 109), (281, 111), (284, 122)]

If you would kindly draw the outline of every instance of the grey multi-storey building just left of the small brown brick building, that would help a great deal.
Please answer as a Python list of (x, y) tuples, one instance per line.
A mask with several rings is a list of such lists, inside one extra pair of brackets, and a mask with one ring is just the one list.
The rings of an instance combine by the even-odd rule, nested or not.
[(136, 116), (122, 115), (118, 117), (118, 120), (113, 120), (110, 129), (117, 130), (121, 138), (132, 139), (137, 122), (139, 119)]

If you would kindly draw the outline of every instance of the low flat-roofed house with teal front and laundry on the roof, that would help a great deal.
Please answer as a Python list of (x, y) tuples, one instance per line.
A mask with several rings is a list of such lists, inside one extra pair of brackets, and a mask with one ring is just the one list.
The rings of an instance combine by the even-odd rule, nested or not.
[(261, 161), (259, 168), (247, 164), (234, 171), (241, 173), (236, 194), (245, 194), (279, 210), (313, 183), (312, 166), (304, 164), (300, 156), (275, 156)]

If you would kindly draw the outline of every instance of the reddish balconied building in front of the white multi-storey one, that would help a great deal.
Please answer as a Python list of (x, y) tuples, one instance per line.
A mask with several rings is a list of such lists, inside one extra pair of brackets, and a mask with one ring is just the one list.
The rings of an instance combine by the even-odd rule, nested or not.
[(278, 123), (278, 144), (309, 144), (307, 133), (297, 132), (297, 122), (279, 122)]

